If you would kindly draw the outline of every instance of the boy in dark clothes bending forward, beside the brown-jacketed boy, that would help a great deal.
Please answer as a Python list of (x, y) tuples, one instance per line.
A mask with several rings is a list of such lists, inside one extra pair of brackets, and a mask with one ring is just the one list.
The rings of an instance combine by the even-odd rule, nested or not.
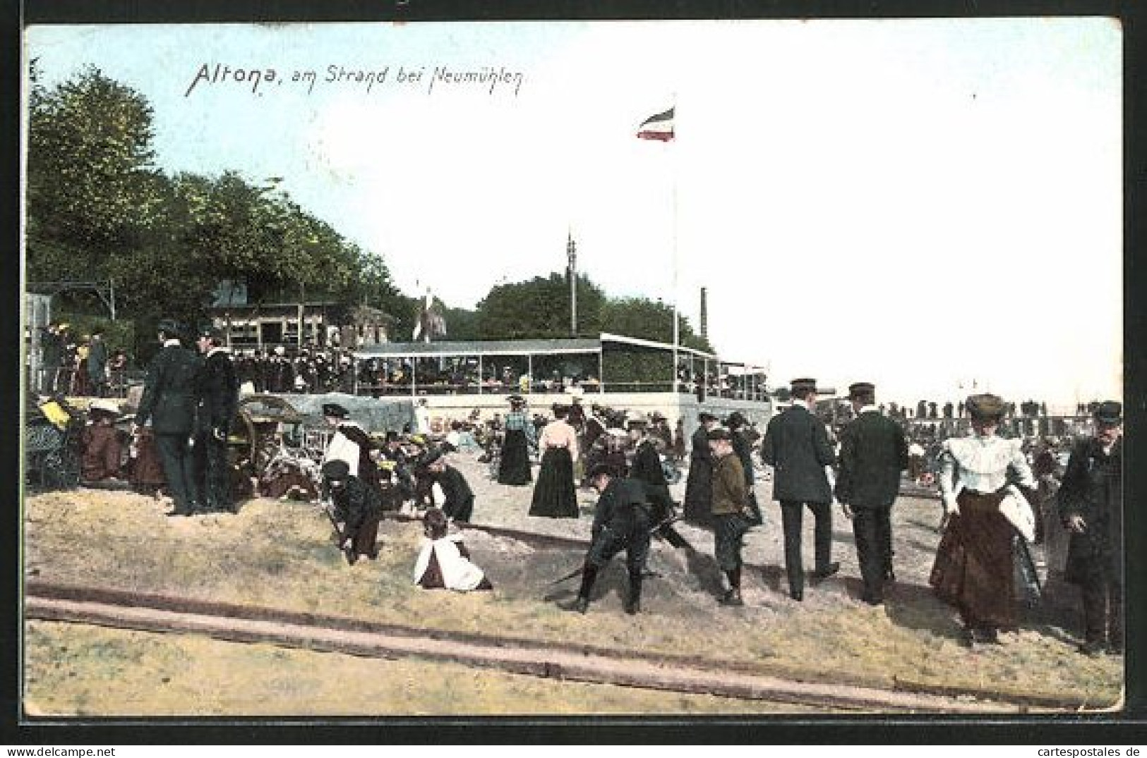
[(649, 504), (642, 482), (623, 479), (609, 466), (590, 469), (590, 485), (598, 490), (593, 527), (590, 530), (590, 550), (582, 569), (582, 586), (567, 610), (585, 613), (590, 608), (590, 593), (598, 579), (598, 571), (617, 553), (625, 551), (625, 566), (630, 577), (630, 592), (625, 598), (625, 613), (641, 610), (641, 571), (649, 552)]

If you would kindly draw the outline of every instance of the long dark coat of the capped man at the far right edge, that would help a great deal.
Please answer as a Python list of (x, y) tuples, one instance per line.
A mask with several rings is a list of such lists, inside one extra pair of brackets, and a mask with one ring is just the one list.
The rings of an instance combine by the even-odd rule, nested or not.
[(1084, 584), (1123, 570), (1123, 440), (1103, 455), (1094, 439), (1077, 442), (1056, 495), (1060, 515), (1083, 516), (1086, 529), (1071, 532), (1064, 578)]

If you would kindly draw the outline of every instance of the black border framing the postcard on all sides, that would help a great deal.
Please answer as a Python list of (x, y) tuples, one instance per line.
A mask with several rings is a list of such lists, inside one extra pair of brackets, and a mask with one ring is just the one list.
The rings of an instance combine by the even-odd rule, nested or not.
[[(762, 2), (680, 0), (638, 2), (510, 2), (505, 0), (455, 2), (407, 0), (197, 0), (179, 3), (145, 3), (131, 0), (28, 0), (15, 5), (3, 0), (5, 45), (0, 45), (0, 72), (7, 108), (0, 109), (0, 128), (8, 136), (0, 157), (5, 182), (2, 228), (7, 243), (5, 283), (13, 287), (9, 307), (0, 309), (0, 334), (9, 356), (18, 355), (14, 337), (19, 327), (19, 108), (21, 31), (32, 23), (224, 23), (224, 22), (328, 22), (328, 21), (570, 21), (570, 19), (704, 19), (704, 18), (902, 18), (902, 17), (999, 17), (999, 16), (1109, 16), (1124, 27), (1124, 400), (1125, 400), (1125, 503), (1128, 534), (1128, 702), (1118, 714), (988, 718), (731, 718), (633, 719), (585, 718), (426, 718), (426, 719), (204, 719), (195, 721), (149, 719), (139, 724), (88, 723), (46, 725), (18, 723), (18, 614), (2, 614), (0, 627), (0, 743), (24, 745), (68, 744), (1028, 744), (1028, 745), (1131, 745), (1141, 744), (1147, 721), (1147, 518), (1140, 507), (1147, 467), (1140, 453), (1147, 388), (1144, 368), (1147, 356), (1147, 310), (1137, 297), (1144, 286), (1144, 213), (1137, 208), (1147, 181), (1142, 129), (1144, 87), (1140, 72), (1145, 61), (1144, 17), (1147, 9), (1134, 2), (1061, 1), (970, 1), (922, 0), (830, 1), (771, 0)], [(1080, 251), (1086, 254), (1086, 251)], [(1071, 302), (1078, 302), (1076, 298)], [(1087, 318), (1086, 303), (1062, 307), (1048, 314), (1047, 327), (1064, 318)], [(16, 337), (18, 339), (18, 337)], [(18, 425), (18, 361), (13, 371), (0, 373), (0, 398), (9, 419), (5, 437), (3, 474), (11, 496), (5, 500), (8, 519), (0, 530), (0, 554), (5, 561), (0, 582), (3, 608), (17, 608), (18, 586), (18, 481), (16, 455)]]

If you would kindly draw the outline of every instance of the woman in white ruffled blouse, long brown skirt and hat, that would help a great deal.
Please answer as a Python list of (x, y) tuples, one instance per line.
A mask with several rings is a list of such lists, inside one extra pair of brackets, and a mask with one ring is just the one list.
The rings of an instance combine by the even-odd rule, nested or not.
[[(1016, 626), (1015, 556), (1017, 534), (1000, 511), (1008, 483), (1035, 488), (1036, 480), (1019, 440), (996, 436), (1005, 412), (994, 395), (967, 402), (973, 436), (944, 442), (939, 489), (947, 528), (936, 552), (929, 583), (953, 606), (963, 624), (962, 641), (997, 643), (1000, 629)], [(962, 484), (959, 495), (957, 483)]]

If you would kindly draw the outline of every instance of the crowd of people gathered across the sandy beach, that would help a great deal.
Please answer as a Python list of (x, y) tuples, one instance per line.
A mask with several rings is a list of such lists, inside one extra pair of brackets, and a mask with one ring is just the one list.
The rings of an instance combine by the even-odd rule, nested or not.
[[(243, 382), (241, 361), (210, 327), (196, 332), (194, 350), (184, 347), (172, 323), (161, 324), (158, 338), (163, 347), (147, 372), (127, 455), (117, 448), (118, 405), (100, 397), (91, 402), (84, 481), (116, 482), (128, 460), (131, 482), (153, 491), (162, 487), (172, 516), (234, 512), (244, 490), (236, 487), (227, 443)], [(650, 539), (692, 550), (673, 528), (679, 518), (713, 534), (713, 559), (724, 578), (717, 602), (743, 605), (741, 553), (746, 534), (764, 520), (755, 491), (763, 465), (772, 472), (772, 497), (780, 506), (789, 597), (798, 602), (805, 597), (805, 510), (813, 520), (812, 585), (840, 571), (833, 560), (838, 510), (852, 524), (860, 599), (881, 605), (896, 582), (890, 513), (904, 474), (912, 481), (916, 473), (913, 458), (922, 457), (922, 448), (906, 432), (910, 425), (881, 410), (871, 384), (849, 388), (852, 412), (837, 428), (817, 416), (814, 380), (795, 380), (789, 390), (791, 404), (763, 433), (740, 412), (719, 419), (702, 411), (689, 444), (680, 421), (673, 429), (661, 413), (586, 408), (576, 394), (563, 395), (547, 413), (532, 412), (513, 394), (505, 416), (481, 423), (475, 412), (451, 421), (445, 433), (429, 429), (424, 401), (413, 424), (387, 432), (369, 432), (345, 408), (328, 403), (322, 459), (268, 468), (245, 492), (323, 503), (349, 563), (377, 556), (384, 512), (420, 518), (426, 542), (415, 583), (489, 589), (490, 579), (451, 528), (471, 520), (475, 495), (447, 453), (481, 452), (499, 484), (532, 487), (531, 516), (580, 518), (578, 489), (598, 492), (582, 584), (565, 607), (586, 613), (598, 573), (625, 551), (625, 610), (635, 614)], [(1000, 435), (1008, 404), (994, 395), (973, 395), (961, 405), (972, 434), (930, 440), (935, 456), (918, 481), (928, 475), (938, 487), (944, 515), (929, 583), (958, 615), (965, 643), (992, 645), (1001, 630), (1016, 627), (1017, 601), (1039, 591), (1029, 546), (1058, 540), (1066, 553), (1064, 578), (1083, 591), (1080, 650), (1122, 653), (1122, 406), (1092, 404), (1094, 433), (1053, 445)], [(686, 452), (679, 514), (666, 473), (685, 464)]]

